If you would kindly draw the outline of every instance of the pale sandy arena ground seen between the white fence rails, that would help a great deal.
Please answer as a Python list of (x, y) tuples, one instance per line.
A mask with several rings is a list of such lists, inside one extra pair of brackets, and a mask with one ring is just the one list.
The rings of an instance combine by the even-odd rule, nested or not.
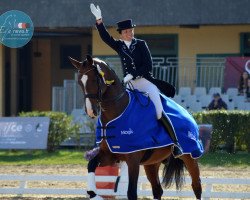
[[(143, 169), (140, 171), (141, 175), (144, 175)], [(20, 166), (0, 166), (0, 174), (19, 174), (19, 175), (31, 175), (31, 174), (39, 174), (39, 175), (50, 175), (50, 174), (56, 174), (56, 175), (86, 175), (87, 170), (85, 167), (81, 165), (53, 165), (53, 166), (43, 166), (43, 165), (20, 165)], [(187, 174), (188, 176), (188, 174)], [(250, 166), (245, 168), (240, 167), (201, 167), (201, 177), (224, 177), (224, 178), (249, 178), (250, 177)], [(9, 187), (18, 187), (17, 181), (1, 181), (0, 180), (0, 188), (9, 188)], [(28, 184), (29, 187), (43, 187), (43, 186), (49, 186), (49, 187), (67, 187), (67, 188), (86, 188), (85, 183), (77, 183), (77, 182), (31, 182)], [(150, 187), (149, 185), (147, 187)], [(191, 189), (189, 185), (184, 187), (185, 189)], [(215, 191), (237, 191), (237, 192), (250, 192), (249, 186), (220, 186), (215, 185), (213, 187)], [(0, 200), (84, 200), (86, 198), (75, 198), (67, 196), (67, 198), (63, 196), (58, 197), (46, 197), (46, 196), (24, 196), (24, 197), (16, 197), (16, 196), (10, 196), (10, 195), (1, 195), (0, 194)]]

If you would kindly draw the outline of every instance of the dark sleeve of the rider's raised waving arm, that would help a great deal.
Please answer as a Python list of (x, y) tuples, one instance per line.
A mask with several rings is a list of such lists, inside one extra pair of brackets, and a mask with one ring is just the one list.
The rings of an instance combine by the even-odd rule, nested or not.
[(118, 51), (117, 40), (115, 40), (105, 28), (102, 19), (96, 21), (96, 28), (102, 40), (115, 51)]

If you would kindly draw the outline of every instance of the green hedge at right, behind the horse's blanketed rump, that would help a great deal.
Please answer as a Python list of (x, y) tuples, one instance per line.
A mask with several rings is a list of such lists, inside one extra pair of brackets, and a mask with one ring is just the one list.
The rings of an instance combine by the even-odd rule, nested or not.
[(211, 150), (224, 146), (228, 152), (250, 152), (250, 111), (214, 110), (193, 113), (198, 124), (212, 124)]

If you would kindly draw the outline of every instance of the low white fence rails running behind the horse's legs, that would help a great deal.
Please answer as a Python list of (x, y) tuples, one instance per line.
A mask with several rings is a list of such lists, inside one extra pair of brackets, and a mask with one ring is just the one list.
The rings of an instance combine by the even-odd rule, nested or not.
[[(124, 178), (124, 177), (123, 177)], [(97, 176), (97, 182), (115, 182), (116, 176)], [(29, 182), (32, 181), (57, 181), (57, 182), (86, 182), (86, 176), (73, 176), (73, 175), (0, 175), (0, 182), (3, 181), (17, 181), (19, 187), (17, 188), (0, 188), (0, 194), (40, 194), (40, 195), (86, 195), (85, 188), (32, 188), (28, 187)], [(124, 179), (123, 179), (124, 180)], [(126, 178), (125, 178), (126, 180)], [(186, 183), (190, 184), (190, 178), (186, 178)], [(145, 176), (139, 177), (139, 196), (152, 196), (151, 189), (146, 189), (143, 184), (148, 183)], [(250, 186), (250, 179), (235, 179), (235, 178), (202, 178), (202, 183), (205, 185), (203, 188), (203, 199), (210, 198), (229, 198), (229, 199), (250, 199), (250, 192), (216, 192), (213, 191), (213, 185), (246, 185)], [(123, 183), (124, 184), (124, 183)], [(112, 189), (98, 189), (100, 195), (114, 195), (117, 197), (126, 196), (124, 187), (118, 186), (118, 191), (114, 192)], [(193, 191), (175, 191), (164, 190), (163, 196), (166, 197), (183, 197), (194, 198)]]

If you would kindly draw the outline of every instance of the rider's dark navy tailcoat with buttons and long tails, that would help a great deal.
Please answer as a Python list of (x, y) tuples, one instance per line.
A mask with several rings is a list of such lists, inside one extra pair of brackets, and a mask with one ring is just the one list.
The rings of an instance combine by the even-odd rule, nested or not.
[(168, 82), (155, 79), (152, 75), (152, 57), (144, 40), (134, 38), (128, 48), (122, 40), (114, 39), (106, 30), (103, 23), (96, 24), (102, 40), (114, 49), (120, 56), (123, 75), (133, 75), (134, 79), (144, 77), (168, 97), (174, 97), (175, 87)]

